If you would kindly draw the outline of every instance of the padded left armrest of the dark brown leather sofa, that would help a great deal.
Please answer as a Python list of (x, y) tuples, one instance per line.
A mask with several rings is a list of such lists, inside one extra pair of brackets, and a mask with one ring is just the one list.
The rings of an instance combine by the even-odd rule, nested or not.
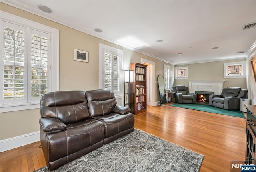
[(62, 131), (66, 130), (66, 124), (64, 124), (62, 121), (56, 118), (40, 118), (39, 119), (40, 127), (42, 127), (42, 130), (44, 132), (49, 131)]

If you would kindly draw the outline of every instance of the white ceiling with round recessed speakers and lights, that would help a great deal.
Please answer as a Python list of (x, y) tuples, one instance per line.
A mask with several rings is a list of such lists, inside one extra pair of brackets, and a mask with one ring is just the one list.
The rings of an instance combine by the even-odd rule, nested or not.
[[(256, 0), (0, 2), (173, 65), (242, 59), (256, 40), (256, 27), (243, 30), (245, 24), (256, 22)], [(40, 5), (52, 12), (42, 12)]]

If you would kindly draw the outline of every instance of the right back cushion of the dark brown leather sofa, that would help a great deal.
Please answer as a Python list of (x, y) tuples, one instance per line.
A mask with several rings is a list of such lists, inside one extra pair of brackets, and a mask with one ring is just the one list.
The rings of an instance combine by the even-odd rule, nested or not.
[(116, 98), (112, 90), (86, 91), (86, 97), (91, 117), (107, 115), (116, 106)]

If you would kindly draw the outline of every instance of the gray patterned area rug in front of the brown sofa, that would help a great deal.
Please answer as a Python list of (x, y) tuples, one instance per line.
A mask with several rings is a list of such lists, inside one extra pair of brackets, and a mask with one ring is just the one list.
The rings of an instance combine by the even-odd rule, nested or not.
[[(204, 156), (138, 129), (52, 172), (198, 172)], [(48, 172), (45, 166), (35, 172)]]

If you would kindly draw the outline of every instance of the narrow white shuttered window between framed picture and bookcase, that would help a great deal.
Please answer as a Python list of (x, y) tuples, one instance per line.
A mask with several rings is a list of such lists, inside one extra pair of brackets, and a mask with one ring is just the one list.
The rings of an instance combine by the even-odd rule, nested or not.
[(99, 88), (113, 90), (115, 95), (122, 94), (123, 51), (100, 44)]

